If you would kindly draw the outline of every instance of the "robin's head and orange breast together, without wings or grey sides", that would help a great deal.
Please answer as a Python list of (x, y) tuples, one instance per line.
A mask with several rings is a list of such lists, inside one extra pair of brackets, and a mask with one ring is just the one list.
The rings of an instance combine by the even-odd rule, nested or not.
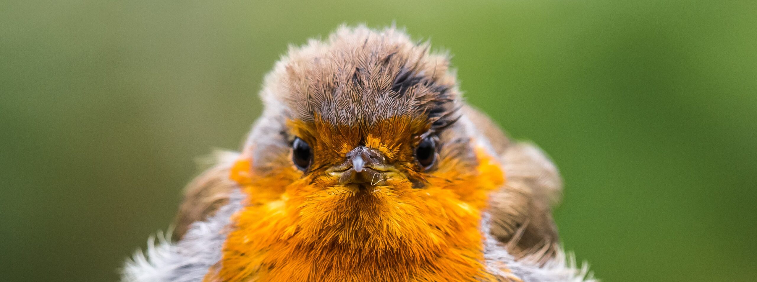
[(481, 281), (500, 164), (447, 59), (387, 29), (291, 49), (232, 168), (248, 195), (207, 281)]

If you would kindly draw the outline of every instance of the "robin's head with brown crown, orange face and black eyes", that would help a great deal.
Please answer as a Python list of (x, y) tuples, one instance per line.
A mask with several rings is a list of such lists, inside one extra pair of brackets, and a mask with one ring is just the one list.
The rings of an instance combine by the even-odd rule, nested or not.
[(411, 195), (434, 189), (456, 198), (475, 192), (469, 178), (480, 174), (480, 154), (461, 122), (447, 56), (429, 52), (428, 43), (395, 29), (343, 28), (290, 48), (261, 96), (248, 163), (236, 170), (254, 175), (253, 201), (284, 195), (331, 211), (422, 204)]

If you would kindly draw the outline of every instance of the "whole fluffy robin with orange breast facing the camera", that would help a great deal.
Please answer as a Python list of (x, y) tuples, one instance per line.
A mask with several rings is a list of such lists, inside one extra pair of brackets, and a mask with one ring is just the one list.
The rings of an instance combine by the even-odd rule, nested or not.
[(290, 45), (241, 150), (185, 189), (123, 282), (595, 281), (562, 249), (562, 180), (466, 103), (446, 51), (340, 26)]

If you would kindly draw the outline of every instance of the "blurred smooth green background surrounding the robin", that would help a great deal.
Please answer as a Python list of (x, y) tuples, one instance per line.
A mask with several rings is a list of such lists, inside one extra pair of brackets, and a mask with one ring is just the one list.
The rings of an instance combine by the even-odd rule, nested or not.
[(290, 43), (396, 21), (565, 177), (605, 281), (757, 277), (757, 2), (0, 1), (0, 280), (114, 281)]

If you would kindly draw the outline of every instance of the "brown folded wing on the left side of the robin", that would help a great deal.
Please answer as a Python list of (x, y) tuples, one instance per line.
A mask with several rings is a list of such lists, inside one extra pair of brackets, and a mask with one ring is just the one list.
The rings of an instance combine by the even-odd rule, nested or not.
[(180, 240), (193, 222), (205, 220), (229, 202), (229, 193), (236, 187), (236, 182), (229, 179), (229, 170), (238, 155), (229, 151), (214, 153), (215, 164), (187, 185), (175, 219), (174, 240)]

